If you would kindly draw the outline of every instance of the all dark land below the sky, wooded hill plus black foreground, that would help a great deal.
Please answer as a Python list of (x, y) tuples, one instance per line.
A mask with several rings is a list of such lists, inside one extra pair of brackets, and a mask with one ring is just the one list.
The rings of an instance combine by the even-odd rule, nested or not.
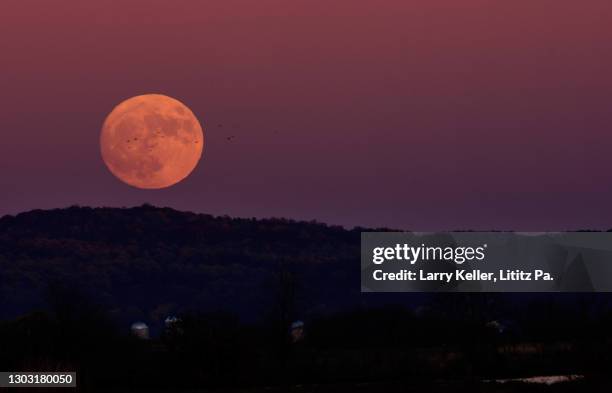
[(609, 387), (610, 293), (363, 293), (360, 231), (283, 220), (73, 208), (0, 230), (5, 370), (88, 391)]

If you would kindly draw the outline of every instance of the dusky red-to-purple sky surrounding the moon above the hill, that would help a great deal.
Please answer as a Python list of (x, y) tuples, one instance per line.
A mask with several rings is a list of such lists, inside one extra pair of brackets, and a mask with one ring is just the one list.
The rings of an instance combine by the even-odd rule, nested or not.
[[(149, 202), (612, 227), (611, 42), (609, 0), (5, 0), (0, 215)], [(98, 138), (116, 104), (152, 92), (187, 104), (206, 145), (184, 182), (144, 191), (109, 173)]]

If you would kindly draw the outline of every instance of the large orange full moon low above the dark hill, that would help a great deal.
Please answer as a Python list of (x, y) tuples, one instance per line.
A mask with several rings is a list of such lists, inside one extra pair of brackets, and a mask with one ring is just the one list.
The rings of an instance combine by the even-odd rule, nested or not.
[(137, 188), (180, 182), (196, 167), (203, 149), (204, 133), (193, 112), (162, 94), (123, 101), (106, 117), (100, 134), (108, 169)]

